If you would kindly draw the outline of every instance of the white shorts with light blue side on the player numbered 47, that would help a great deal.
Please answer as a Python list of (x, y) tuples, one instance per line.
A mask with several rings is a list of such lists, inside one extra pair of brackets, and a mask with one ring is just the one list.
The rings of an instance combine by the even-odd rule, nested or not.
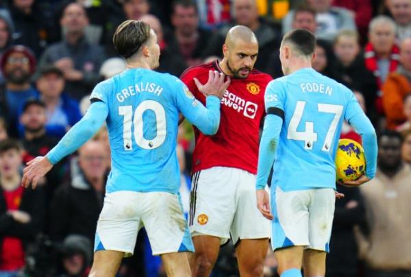
[(334, 189), (284, 192), (277, 186), (274, 196), (273, 250), (303, 245), (329, 252), (336, 201)]

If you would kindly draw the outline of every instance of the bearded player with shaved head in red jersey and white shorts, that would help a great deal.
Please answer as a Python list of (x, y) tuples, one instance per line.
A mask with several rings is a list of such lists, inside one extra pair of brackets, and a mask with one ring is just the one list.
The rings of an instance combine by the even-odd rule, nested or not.
[(181, 80), (205, 103), (202, 84), (208, 71), (231, 78), (221, 99), (221, 122), (214, 136), (195, 129), (190, 232), (195, 244), (193, 276), (210, 276), (220, 245), (231, 234), (241, 276), (262, 276), (271, 222), (257, 209), (256, 173), (264, 91), (271, 76), (256, 71), (258, 41), (251, 29), (229, 30), (224, 58), (187, 69)]

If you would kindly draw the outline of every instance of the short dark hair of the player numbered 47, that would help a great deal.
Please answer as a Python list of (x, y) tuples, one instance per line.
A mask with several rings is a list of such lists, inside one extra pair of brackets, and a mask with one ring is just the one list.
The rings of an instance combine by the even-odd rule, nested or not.
[(315, 36), (306, 29), (294, 29), (288, 32), (282, 42), (291, 43), (303, 56), (311, 56), (315, 51)]

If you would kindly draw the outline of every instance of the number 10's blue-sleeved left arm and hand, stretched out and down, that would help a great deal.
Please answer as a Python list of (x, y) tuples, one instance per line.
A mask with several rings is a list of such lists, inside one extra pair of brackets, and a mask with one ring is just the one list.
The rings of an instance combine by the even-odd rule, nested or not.
[(45, 176), (62, 158), (75, 152), (88, 141), (101, 128), (107, 116), (107, 104), (103, 101), (92, 103), (82, 120), (77, 122), (45, 157), (37, 157), (27, 163), (22, 185), (27, 188), (32, 184), (33, 189), (36, 188), (38, 179)]

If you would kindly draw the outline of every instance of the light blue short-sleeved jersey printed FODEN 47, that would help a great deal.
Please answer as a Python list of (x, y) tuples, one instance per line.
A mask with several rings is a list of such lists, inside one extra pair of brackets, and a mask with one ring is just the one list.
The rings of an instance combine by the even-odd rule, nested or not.
[(343, 121), (362, 113), (353, 93), (306, 68), (271, 81), (265, 106), (266, 111), (284, 111), (272, 186), (283, 191), (335, 189), (334, 160)]

